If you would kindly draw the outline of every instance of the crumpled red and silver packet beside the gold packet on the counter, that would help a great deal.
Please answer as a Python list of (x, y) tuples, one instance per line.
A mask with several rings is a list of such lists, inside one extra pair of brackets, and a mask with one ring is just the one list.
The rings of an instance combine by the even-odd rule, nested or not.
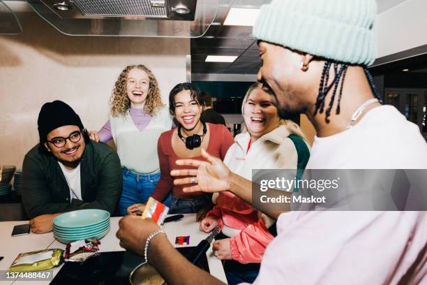
[(87, 258), (98, 256), (100, 254), (99, 244), (100, 241), (96, 238), (70, 242), (66, 247), (65, 261), (84, 262)]

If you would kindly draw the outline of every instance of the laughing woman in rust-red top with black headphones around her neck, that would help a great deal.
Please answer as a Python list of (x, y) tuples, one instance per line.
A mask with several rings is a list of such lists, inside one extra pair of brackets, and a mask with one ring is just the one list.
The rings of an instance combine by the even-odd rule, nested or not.
[[(234, 142), (230, 131), (222, 124), (210, 124), (200, 120), (202, 109), (200, 90), (191, 83), (179, 83), (169, 94), (169, 110), (178, 127), (165, 131), (158, 139), (161, 178), (151, 196), (161, 201), (172, 193), (170, 214), (197, 213), (212, 205), (210, 195), (202, 192), (188, 195), (182, 190), (186, 185), (174, 185), (170, 170), (181, 168), (177, 166), (177, 160), (204, 160), (202, 148), (209, 154), (224, 159), (228, 148)], [(138, 203), (129, 207), (128, 212), (142, 214), (144, 208), (143, 203)]]

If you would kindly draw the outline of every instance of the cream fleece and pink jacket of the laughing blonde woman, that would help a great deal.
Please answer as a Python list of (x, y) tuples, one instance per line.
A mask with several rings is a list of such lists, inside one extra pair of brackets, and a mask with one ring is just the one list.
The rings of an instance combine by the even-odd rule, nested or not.
[[(289, 135), (290, 131), (285, 126), (279, 126), (253, 142), (248, 151), (250, 135), (240, 133), (228, 149), (224, 163), (232, 172), (248, 180), (252, 179), (254, 168), (295, 169), (298, 154)], [(216, 206), (208, 214), (218, 219), (221, 228), (227, 226), (241, 231), (230, 238), (234, 260), (240, 263), (261, 262), (267, 244), (274, 238), (266, 228), (265, 222), (271, 222), (267, 216), (262, 214), (266, 219), (260, 218), (261, 213), (228, 191), (219, 193)]]

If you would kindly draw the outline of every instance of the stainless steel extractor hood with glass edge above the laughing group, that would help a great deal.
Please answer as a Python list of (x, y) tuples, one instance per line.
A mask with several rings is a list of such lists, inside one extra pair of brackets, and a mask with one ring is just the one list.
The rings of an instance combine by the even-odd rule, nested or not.
[(215, 18), (218, 0), (29, 0), (70, 36), (196, 38)]

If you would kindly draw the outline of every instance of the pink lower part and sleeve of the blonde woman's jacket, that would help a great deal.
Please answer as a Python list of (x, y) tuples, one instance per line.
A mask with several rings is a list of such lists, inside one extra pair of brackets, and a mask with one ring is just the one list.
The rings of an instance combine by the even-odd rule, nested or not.
[(230, 238), (232, 258), (239, 263), (261, 263), (267, 245), (273, 235), (267, 231), (264, 219), (258, 218), (257, 210), (233, 193), (221, 192), (216, 205), (208, 213), (218, 219), (220, 227), (241, 230)]

